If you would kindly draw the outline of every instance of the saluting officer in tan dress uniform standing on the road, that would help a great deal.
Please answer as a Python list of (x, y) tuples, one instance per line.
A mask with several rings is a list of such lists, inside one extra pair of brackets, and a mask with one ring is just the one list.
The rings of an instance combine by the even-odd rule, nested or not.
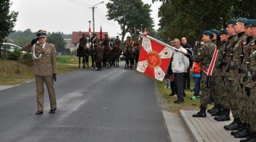
[(38, 102), (38, 111), (36, 115), (41, 115), (44, 111), (44, 83), (47, 86), (50, 97), (50, 111), (55, 113), (56, 95), (54, 90), (54, 80), (56, 81), (57, 61), (56, 49), (53, 44), (46, 42), (46, 31), (36, 32), (38, 38), (33, 39), (31, 43), (22, 48), (26, 52), (32, 51), (34, 60), (33, 72), (36, 74), (36, 98)]

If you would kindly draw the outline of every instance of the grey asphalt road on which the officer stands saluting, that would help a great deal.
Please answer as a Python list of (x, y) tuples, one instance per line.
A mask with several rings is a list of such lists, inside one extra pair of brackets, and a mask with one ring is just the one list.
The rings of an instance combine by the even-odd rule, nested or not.
[(35, 82), (0, 91), (0, 141), (169, 141), (155, 82), (123, 68), (57, 75), (57, 111), (36, 113)]

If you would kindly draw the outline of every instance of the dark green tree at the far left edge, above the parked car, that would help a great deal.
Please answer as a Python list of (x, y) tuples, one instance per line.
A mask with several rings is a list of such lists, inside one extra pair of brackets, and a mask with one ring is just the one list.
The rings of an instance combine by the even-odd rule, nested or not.
[[(3, 39), (11, 33), (18, 13), (10, 11), (10, 1), (0, 1), (0, 44), (3, 43)], [(0, 58), (1, 58), (1, 45), (0, 45)]]

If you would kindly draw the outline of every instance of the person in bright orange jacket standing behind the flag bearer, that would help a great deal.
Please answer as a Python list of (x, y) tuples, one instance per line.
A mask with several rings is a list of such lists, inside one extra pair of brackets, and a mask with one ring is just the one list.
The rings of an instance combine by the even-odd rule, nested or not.
[(200, 63), (198, 62), (193, 62), (193, 66), (191, 69), (191, 72), (193, 74), (194, 78), (194, 96), (192, 96), (191, 100), (197, 100), (200, 98), (199, 92), (200, 92)]

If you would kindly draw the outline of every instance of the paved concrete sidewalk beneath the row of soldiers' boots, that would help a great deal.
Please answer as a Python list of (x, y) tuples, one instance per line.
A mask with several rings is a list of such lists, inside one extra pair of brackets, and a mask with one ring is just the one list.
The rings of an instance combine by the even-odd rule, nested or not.
[(193, 114), (198, 111), (183, 111), (180, 110), (180, 118), (186, 125), (186, 128), (190, 132), (193, 141), (240, 141), (231, 135), (231, 131), (226, 131), (223, 126), (229, 125), (233, 121), (231, 115), (231, 121), (218, 122), (214, 120), (209, 113), (206, 118), (195, 118)]

